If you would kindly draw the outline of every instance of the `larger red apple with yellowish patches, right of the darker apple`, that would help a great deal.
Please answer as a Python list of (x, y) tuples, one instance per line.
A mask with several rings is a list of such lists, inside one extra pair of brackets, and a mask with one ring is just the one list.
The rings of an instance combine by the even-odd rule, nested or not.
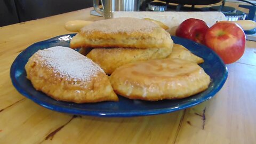
[(205, 45), (215, 51), (226, 64), (242, 57), (245, 41), (244, 31), (236, 23), (215, 23), (205, 33)]

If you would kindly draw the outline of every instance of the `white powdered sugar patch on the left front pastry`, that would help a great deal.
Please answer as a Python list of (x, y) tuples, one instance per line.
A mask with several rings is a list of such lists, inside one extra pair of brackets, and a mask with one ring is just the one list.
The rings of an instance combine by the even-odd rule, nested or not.
[(54, 73), (66, 77), (67, 80), (89, 81), (99, 71), (103, 72), (92, 60), (69, 47), (50, 47), (35, 54), (45, 67), (52, 68)]

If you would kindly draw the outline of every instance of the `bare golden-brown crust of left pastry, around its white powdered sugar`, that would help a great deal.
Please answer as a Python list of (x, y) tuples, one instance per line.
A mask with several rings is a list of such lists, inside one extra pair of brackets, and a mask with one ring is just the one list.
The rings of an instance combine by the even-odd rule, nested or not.
[(29, 59), (25, 69), (27, 78), (35, 89), (53, 99), (76, 103), (118, 101), (108, 76), (102, 70), (97, 70), (90, 78), (70, 79), (58, 73), (54, 67), (45, 65), (44, 60), (37, 53)]

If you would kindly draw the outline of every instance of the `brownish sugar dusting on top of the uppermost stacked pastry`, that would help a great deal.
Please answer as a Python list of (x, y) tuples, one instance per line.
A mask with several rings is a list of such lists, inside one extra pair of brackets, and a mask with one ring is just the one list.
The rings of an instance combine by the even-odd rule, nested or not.
[(115, 18), (99, 20), (82, 28), (82, 33), (100, 31), (102, 33), (132, 33), (134, 31), (150, 33), (159, 27), (154, 22), (137, 18)]

